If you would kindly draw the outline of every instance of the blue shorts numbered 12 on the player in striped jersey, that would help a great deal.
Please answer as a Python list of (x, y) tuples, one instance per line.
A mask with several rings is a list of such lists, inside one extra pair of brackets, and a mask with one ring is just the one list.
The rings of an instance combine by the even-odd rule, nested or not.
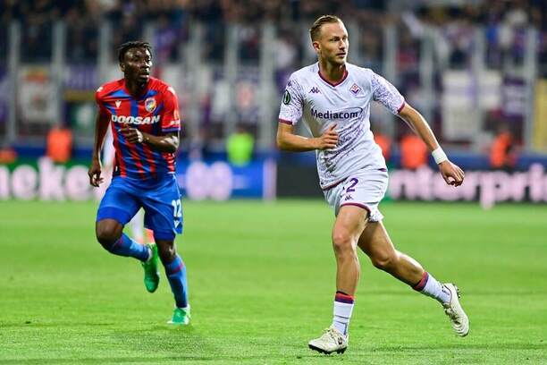
[(126, 225), (141, 207), (145, 226), (157, 240), (171, 241), (182, 233), (181, 193), (174, 175), (155, 184), (114, 176), (99, 205), (97, 222), (110, 218)]

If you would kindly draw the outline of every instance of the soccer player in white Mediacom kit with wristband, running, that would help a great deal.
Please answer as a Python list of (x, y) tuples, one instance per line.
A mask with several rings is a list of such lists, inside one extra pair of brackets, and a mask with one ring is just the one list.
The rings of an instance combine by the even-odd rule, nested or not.
[[(348, 64), (348, 32), (335, 16), (318, 18), (310, 29), (318, 63), (292, 73), (283, 93), (277, 145), (289, 151), (316, 150), (317, 172), (324, 197), (334, 209), (332, 247), (336, 257), (336, 294), (332, 326), (309, 347), (323, 353), (348, 347), (349, 318), (359, 278), (357, 247), (374, 267), (395, 276), (442, 304), (457, 335), (469, 332), (454, 284), (442, 284), (408, 255), (396, 250), (382, 223), (378, 204), (387, 189), (382, 151), (370, 131), (372, 100), (399, 115), (432, 151), (442, 178), (459, 186), (464, 173), (450, 162), (433, 132), (390, 82), (370, 69)], [(294, 133), (303, 119), (313, 136)]]

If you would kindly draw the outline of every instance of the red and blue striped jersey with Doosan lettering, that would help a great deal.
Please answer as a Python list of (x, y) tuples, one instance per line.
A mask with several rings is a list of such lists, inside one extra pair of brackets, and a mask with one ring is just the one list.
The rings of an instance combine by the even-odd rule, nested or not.
[(156, 181), (174, 174), (174, 153), (151, 149), (145, 143), (128, 143), (120, 132), (124, 124), (156, 136), (180, 132), (179, 103), (171, 86), (151, 77), (142, 95), (134, 98), (120, 79), (98, 88), (95, 98), (100, 118), (110, 121), (114, 136), (114, 176)]

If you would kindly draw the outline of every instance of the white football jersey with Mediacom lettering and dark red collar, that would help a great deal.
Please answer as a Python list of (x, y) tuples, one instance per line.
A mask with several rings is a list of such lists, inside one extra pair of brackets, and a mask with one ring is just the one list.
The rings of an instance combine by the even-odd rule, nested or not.
[(336, 84), (324, 80), (318, 63), (290, 75), (279, 112), (280, 123), (294, 125), (303, 118), (314, 137), (320, 137), (336, 123), (336, 148), (316, 150), (322, 189), (328, 189), (360, 169), (386, 168), (382, 150), (370, 131), (372, 100), (394, 115), (398, 115), (405, 105), (405, 99), (389, 81), (354, 64), (346, 64), (346, 73)]

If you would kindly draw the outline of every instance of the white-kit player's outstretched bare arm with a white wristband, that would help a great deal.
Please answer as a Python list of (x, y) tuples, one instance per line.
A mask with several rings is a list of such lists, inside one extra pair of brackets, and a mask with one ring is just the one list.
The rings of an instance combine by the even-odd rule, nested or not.
[(425, 121), (424, 116), (418, 113), (415, 108), (409, 106), (408, 103), (405, 103), (400, 109), (399, 116), (424, 140), (429, 151), (433, 153), (444, 181), (449, 185), (461, 185), (465, 177), (463, 170), (456, 164), (451, 163), (448, 157), (446, 157), (429, 124)]

